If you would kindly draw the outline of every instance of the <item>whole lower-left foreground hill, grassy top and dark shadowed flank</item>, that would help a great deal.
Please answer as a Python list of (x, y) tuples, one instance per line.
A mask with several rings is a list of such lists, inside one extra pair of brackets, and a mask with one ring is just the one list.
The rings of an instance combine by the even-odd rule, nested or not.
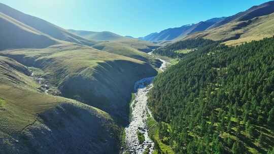
[(109, 114), (41, 93), (25, 66), (1, 56), (0, 63), (0, 153), (118, 153)]

